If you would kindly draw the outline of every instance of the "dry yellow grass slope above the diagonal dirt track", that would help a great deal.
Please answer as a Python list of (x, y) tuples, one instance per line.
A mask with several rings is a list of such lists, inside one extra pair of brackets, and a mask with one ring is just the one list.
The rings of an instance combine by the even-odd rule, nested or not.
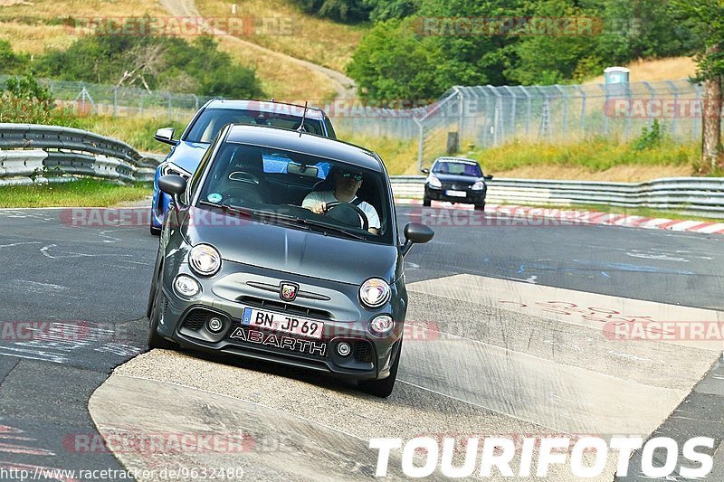
[[(235, 15), (232, 4), (237, 5)], [(196, 0), (196, 7), (205, 17), (253, 17), (254, 32), (240, 35), (243, 40), (335, 71), (344, 71), (369, 28), (313, 17), (280, 0)]]

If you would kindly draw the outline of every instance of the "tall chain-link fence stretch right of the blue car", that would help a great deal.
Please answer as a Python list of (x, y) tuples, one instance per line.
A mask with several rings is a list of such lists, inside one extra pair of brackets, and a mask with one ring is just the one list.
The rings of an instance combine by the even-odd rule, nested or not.
[(424, 109), (376, 109), (334, 118), (355, 133), (410, 139), (418, 164), (436, 156), (507, 142), (561, 143), (604, 136), (640, 137), (653, 128), (678, 142), (700, 138), (701, 118), (720, 117), (688, 80), (551, 86), (453, 87)]

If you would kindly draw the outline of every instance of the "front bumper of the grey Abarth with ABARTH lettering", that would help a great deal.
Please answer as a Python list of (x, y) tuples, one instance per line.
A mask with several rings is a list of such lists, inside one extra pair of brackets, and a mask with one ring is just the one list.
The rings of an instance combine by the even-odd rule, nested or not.
[[(167, 266), (170, 264), (173, 263), (167, 263)], [(389, 375), (404, 326), (404, 313), (400, 316), (392, 302), (374, 312), (368, 311), (356, 301), (358, 287), (320, 279), (314, 279), (315, 284), (310, 285), (309, 279), (231, 261), (224, 261), (222, 271), (212, 279), (195, 276), (186, 263), (178, 265), (177, 269), (164, 270), (164, 299), (158, 334), (182, 347), (359, 380), (382, 379)], [(202, 285), (202, 293), (197, 298), (181, 298), (174, 291), (173, 280), (182, 273), (194, 276)], [(285, 304), (277, 294), (257, 288), (260, 284), (279, 286), (282, 280), (298, 283), (300, 291), (313, 292), (329, 300), (297, 298)], [(324, 323), (322, 337), (313, 339), (244, 326), (245, 307), (314, 319)], [(306, 310), (306, 313), (300, 314), (300, 310)], [(367, 331), (368, 320), (381, 313), (393, 316), (395, 328), (389, 336), (372, 336)], [(212, 333), (205, 323), (211, 317), (218, 317), (223, 322), (224, 327), (218, 334)], [(347, 356), (338, 354), (337, 347), (342, 342), (352, 347)]]

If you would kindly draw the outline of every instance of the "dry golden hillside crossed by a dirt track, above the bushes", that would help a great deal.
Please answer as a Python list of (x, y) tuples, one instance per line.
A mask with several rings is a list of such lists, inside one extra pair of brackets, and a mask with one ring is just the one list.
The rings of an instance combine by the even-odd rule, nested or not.
[[(142, 0), (0, 0), (0, 40), (12, 43), (14, 52), (37, 55), (70, 46), (82, 34), (87, 34), (73, 25), (98, 18), (100, 12), (105, 19), (146, 14), (154, 18), (177, 19), (203, 14), (229, 22), (234, 16), (231, 14), (232, 3), (204, 2), (201, 4), (203, 12), (199, 12), (193, 0), (154, 3)], [(234, 36), (217, 32), (216, 40), (234, 60), (257, 70), (262, 87), (270, 96), (325, 101), (352, 95), (352, 81), (340, 70), (364, 27), (348, 27), (313, 18), (284, 1), (273, 6), (261, 1), (239, 4), (243, 8), (239, 8), (235, 16), (242, 22), (253, 19), (252, 24), (259, 34)]]

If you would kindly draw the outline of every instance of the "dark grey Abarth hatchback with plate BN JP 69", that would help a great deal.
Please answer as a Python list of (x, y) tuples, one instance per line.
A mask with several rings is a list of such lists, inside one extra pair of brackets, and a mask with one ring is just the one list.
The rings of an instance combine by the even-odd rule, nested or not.
[[(356, 186), (348, 202), (302, 207), (347, 184)], [(164, 175), (158, 185), (174, 203), (148, 299), (150, 347), (233, 354), (392, 392), (404, 257), (433, 231), (410, 222), (400, 242), (379, 156), (325, 137), (227, 126), (190, 181)], [(373, 208), (374, 221), (365, 214)]]

